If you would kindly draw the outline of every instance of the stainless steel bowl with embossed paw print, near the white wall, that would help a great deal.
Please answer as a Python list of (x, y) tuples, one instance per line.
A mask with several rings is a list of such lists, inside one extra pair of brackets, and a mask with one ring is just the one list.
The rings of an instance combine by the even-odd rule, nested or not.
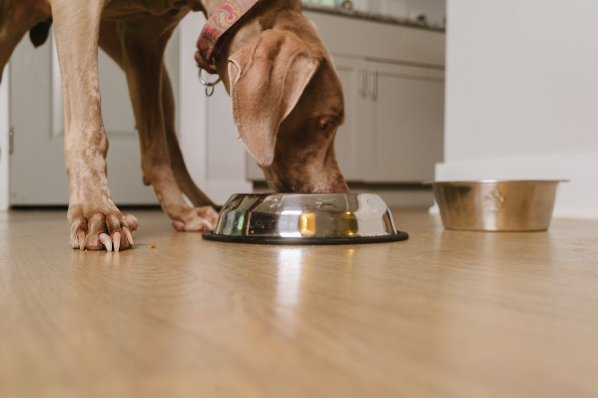
[(561, 180), (428, 182), (444, 228), (474, 231), (544, 231)]

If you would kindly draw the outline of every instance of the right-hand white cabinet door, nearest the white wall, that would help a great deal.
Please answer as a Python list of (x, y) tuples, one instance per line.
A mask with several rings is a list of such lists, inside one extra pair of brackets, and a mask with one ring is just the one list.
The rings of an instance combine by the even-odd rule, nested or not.
[(373, 62), (368, 70), (366, 180), (434, 179), (434, 165), (443, 161), (444, 71)]

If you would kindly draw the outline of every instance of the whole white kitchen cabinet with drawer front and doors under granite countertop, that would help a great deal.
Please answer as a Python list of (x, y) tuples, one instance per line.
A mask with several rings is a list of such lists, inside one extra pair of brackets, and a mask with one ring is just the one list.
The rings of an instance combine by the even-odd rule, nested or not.
[[(318, 26), (343, 84), (346, 118), (335, 150), (345, 179), (434, 179), (443, 161), (444, 33), (304, 14)], [(248, 179), (264, 179), (251, 157)]]

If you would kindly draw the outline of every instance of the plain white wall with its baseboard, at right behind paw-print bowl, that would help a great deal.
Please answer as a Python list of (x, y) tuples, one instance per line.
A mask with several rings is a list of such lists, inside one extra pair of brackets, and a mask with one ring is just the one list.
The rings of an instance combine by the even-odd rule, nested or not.
[(571, 179), (555, 216), (598, 218), (598, 2), (449, 0), (437, 180)]

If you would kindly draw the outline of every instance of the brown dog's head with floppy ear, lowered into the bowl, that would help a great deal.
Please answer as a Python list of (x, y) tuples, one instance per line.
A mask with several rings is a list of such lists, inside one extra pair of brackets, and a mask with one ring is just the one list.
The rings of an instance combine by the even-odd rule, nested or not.
[(309, 21), (263, 30), (228, 57), (237, 133), (277, 192), (348, 192), (334, 137), (343, 90)]

